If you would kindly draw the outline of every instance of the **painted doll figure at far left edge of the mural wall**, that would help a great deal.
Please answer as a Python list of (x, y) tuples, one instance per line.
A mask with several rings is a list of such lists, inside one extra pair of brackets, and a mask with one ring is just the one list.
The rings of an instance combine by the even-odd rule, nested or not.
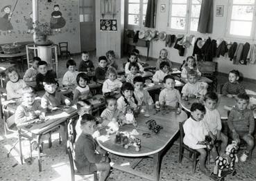
[(13, 29), (12, 23), (10, 23), (10, 19), (12, 17), (12, 12), (10, 11), (11, 7), (12, 6), (7, 5), (1, 9), (1, 12), (6, 13), (3, 17), (0, 17), (0, 30), (2, 31), (11, 32)]

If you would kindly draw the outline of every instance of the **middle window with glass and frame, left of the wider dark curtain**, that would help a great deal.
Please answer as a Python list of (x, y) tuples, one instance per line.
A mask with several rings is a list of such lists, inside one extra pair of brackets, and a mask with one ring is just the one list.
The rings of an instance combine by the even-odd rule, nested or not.
[(197, 31), (202, 0), (171, 0), (169, 27), (171, 30)]

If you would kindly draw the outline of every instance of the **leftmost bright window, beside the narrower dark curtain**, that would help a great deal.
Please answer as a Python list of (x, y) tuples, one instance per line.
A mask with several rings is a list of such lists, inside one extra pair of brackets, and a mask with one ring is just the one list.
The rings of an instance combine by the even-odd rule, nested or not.
[(147, 5), (148, 0), (128, 0), (128, 26), (137, 28), (144, 27)]

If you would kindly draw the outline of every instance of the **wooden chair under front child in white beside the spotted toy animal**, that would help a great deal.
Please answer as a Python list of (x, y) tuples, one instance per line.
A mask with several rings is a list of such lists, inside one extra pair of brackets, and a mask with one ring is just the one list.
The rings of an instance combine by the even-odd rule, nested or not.
[[(182, 162), (182, 157), (187, 158), (189, 161), (193, 162), (192, 164), (192, 171), (193, 173), (196, 172), (196, 162), (197, 162), (197, 158), (198, 155), (200, 155), (200, 153), (194, 149), (189, 148), (189, 146), (187, 146), (186, 144), (183, 143), (183, 137), (185, 135), (184, 130), (183, 130), (183, 124), (184, 122), (179, 122), (179, 127), (180, 127), (180, 155), (179, 155), (179, 162)], [(189, 155), (186, 155), (184, 153), (184, 150), (189, 151)], [(191, 158), (193, 155), (193, 158)]]

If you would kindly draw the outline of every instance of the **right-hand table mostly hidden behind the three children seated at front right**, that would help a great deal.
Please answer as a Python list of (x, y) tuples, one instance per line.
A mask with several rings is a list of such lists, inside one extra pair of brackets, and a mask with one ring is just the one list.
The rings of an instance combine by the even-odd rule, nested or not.
[[(194, 102), (198, 102), (198, 99), (190, 97), (188, 101), (182, 99), (181, 106), (190, 113), (191, 104), (193, 104)], [(230, 110), (235, 104), (236, 100), (234, 98), (219, 95), (217, 109), (221, 114), (221, 120), (228, 120), (228, 110)], [(253, 111), (253, 115), (256, 118), (256, 111)]]

